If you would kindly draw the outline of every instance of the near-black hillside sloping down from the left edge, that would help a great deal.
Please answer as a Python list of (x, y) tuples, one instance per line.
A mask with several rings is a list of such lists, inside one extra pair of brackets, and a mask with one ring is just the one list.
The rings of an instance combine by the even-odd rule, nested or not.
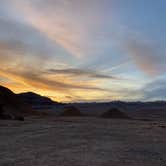
[(0, 112), (11, 116), (35, 114), (30, 105), (3, 86), (0, 86)]

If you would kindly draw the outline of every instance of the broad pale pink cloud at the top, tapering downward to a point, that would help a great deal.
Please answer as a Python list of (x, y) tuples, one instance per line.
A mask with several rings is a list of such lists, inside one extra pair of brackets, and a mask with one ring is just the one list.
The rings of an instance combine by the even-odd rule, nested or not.
[(12, 8), (19, 10), (28, 24), (76, 57), (88, 56), (99, 46), (94, 39), (105, 20), (104, 11), (110, 4), (109, 0), (12, 2)]

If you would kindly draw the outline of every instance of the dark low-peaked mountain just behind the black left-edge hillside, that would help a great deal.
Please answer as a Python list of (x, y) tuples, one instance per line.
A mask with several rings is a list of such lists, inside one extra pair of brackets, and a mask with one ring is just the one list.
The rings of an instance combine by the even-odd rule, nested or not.
[(48, 97), (41, 96), (33, 92), (20, 93), (18, 96), (25, 102), (32, 106), (45, 106), (61, 104), (51, 100)]

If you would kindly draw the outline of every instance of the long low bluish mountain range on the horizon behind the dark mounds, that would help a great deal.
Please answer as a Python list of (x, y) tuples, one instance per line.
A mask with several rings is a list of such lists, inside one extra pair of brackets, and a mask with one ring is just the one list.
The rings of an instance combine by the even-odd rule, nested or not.
[(166, 101), (153, 102), (124, 102), (112, 101), (103, 103), (72, 103), (81, 112), (89, 116), (101, 116), (112, 108), (125, 112), (129, 117), (137, 119), (164, 119), (166, 120)]

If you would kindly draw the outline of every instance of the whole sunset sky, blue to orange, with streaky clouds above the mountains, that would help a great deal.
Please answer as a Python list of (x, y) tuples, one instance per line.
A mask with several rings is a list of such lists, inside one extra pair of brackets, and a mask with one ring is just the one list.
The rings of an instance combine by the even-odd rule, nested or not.
[(165, 0), (0, 0), (0, 84), (60, 102), (166, 100)]

